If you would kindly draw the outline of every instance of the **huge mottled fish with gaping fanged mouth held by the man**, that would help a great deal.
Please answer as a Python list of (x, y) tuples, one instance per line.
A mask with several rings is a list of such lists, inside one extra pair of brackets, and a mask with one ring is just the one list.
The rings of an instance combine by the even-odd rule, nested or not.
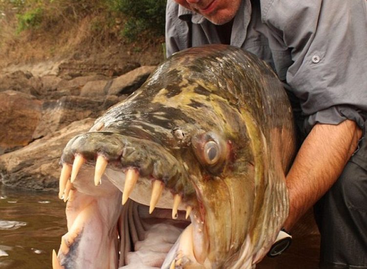
[(292, 110), (249, 52), (175, 53), (61, 157), (54, 269), (249, 269), (288, 214)]

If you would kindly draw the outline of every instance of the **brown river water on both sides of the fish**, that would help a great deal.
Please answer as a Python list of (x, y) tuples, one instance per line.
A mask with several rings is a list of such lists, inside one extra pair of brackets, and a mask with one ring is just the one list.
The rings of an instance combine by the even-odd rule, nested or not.
[[(52, 249), (66, 233), (65, 203), (57, 193), (11, 189), (0, 184), (0, 269), (49, 269)], [(318, 268), (319, 236), (299, 237), (259, 269)], [(301, 263), (300, 263), (301, 262)]]

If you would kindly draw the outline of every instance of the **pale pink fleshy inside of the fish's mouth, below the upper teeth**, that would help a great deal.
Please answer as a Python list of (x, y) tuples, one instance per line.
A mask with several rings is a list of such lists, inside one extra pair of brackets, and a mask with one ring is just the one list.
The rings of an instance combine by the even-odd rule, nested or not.
[[(116, 188), (106, 178), (100, 186), (94, 186), (90, 172), (84, 169), (79, 173), (75, 189), (69, 195), (66, 206), (68, 232), (62, 238), (58, 254), (62, 267), (170, 267), (180, 258), (177, 258), (178, 253), (184, 253), (196, 263), (194, 229), (190, 219), (185, 218), (186, 212), (179, 210), (178, 218), (173, 220), (172, 209), (155, 208), (149, 214), (149, 206), (139, 202), (128, 200), (121, 205), (119, 189), (123, 186)], [(144, 192), (131, 196), (144, 196)], [(184, 230), (185, 238), (180, 237)]]

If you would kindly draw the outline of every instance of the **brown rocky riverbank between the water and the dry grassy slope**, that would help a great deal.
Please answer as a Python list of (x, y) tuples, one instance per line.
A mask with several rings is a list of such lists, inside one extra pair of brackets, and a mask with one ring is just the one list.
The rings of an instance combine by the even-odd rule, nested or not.
[(138, 89), (155, 66), (44, 62), (0, 73), (0, 181), (57, 190), (67, 141)]

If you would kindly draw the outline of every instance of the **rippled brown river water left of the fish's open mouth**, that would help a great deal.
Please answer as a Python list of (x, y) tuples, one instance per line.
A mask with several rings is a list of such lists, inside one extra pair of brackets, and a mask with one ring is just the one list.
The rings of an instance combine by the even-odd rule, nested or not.
[(0, 269), (51, 268), (65, 233), (65, 203), (56, 193), (0, 184)]

